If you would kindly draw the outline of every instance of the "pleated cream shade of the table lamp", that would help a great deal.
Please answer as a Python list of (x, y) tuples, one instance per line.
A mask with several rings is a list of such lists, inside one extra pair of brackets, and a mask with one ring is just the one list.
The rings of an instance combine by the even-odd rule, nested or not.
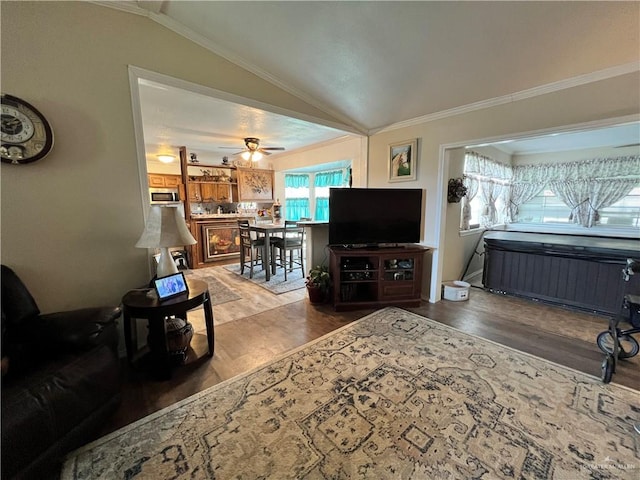
[(179, 247), (196, 243), (178, 207), (152, 205), (144, 232), (136, 243), (136, 247)]

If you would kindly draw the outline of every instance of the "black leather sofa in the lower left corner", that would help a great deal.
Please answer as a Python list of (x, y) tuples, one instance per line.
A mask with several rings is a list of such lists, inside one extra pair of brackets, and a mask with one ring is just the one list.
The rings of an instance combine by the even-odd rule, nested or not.
[(57, 478), (120, 403), (118, 307), (40, 314), (2, 265), (2, 479)]

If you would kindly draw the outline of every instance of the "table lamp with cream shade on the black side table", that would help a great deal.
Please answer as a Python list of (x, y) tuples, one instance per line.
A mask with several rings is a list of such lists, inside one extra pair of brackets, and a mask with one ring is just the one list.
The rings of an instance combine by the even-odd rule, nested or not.
[(158, 277), (178, 273), (178, 267), (169, 253), (169, 247), (194, 245), (197, 241), (189, 232), (184, 218), (176, 206), (152, 205), (138, 248), (159, 248), (160, 259), (156, 268)]

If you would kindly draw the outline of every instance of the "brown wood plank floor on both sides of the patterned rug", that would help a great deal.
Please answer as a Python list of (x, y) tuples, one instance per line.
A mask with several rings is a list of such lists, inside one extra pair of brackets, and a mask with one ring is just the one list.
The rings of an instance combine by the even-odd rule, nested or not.
[[(230, 282), (233, 279), (229, 279)], [(249, 282), (230, 285), (245, 298), (273, 295), (256, 291)], [(246, 290), (244, 290), (246, 289)], [(178, 400), (249, 371), (287, 351), (349, 324), (373, 310), (334, 312), (329, 305), (310, 305), (287, 297), (269, 307), (215, 327), (215, 355), (205, 355), (206, 336), (196, 328), (192, 351), (185, 365), (174, 369), (168, 381), (154, 381), (144, 369), (126, 367), (123, 402), (102, 434), (167, 407)], [(300, 293), (300, 292), (299, 292)], [(238, 317), (236, 304), (214, 306), (214, 316)], [(595, 339), (606, 330), (608, 319), (530, 300), (492, 294), (472, 288), (464, 302), (423, 302), (408, 309), (470, 334), (600, 377), (603, 355)], [(189, 320), (194, 323), (191, 317)], [(618, 383), (640, 390), (640, 355), (621, 361), (613, 377)]]

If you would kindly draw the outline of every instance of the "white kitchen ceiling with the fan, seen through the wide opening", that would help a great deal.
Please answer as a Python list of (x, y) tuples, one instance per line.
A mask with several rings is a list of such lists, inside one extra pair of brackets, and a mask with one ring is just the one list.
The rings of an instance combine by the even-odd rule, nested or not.
[(224, 156), (233, 161), (244, 150), (246, 137), (259, 138), (260, 147), (290, 152), (350, 135), (150, 80), (139, 80), (138, 91), (148, 162), (157, 161), (157, 155), (177, 155), (180, 146), (202, 163), (220, 163)]

